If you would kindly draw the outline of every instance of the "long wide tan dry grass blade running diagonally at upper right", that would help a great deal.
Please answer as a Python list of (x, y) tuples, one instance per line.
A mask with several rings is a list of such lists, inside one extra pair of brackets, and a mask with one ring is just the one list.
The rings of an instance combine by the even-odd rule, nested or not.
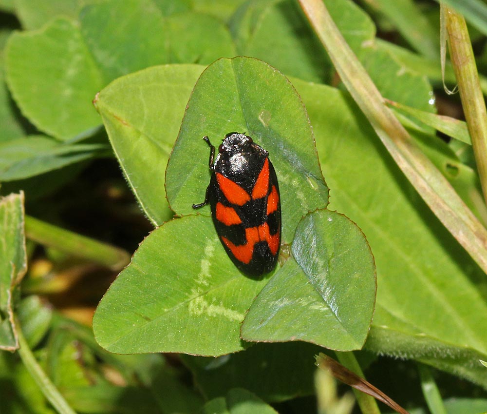
[(431, 211), (487, 273), (487, 231), (394, 116), (321, 0), (300, 0), (338, 75)]

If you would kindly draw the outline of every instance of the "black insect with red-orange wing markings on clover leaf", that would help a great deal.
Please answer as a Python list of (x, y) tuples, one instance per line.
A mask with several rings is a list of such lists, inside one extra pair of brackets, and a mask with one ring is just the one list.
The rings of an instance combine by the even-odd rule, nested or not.
[(205, 201), (211, 206), (216, 232), (235, 266), (249, 276), (270, 272), (281, 245), (281, 201), (276, 172), (269, 153), (237, 132), (225, 136), (215, 157)]

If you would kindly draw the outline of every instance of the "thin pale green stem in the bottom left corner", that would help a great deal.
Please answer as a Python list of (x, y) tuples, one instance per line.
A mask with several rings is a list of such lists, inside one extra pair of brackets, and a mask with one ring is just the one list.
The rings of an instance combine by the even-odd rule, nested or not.
[(16, 326), (17, 335), (19, 337), (20, 348), (18, 352), (20, 358), (27, 368), (27, 371), (29, 371), (29, 374), (36, 381), (44, 396), (53, 405), (53, 407), (59, 414), (76, 414), (38, 364), (36, 358), (34, 357), (34, 354), (32, 354), (31, 349), (27, 345), (27, 341), (25, 340), (25, 337), (22, 333), (22, 328), (18, 319), (16, 319)]

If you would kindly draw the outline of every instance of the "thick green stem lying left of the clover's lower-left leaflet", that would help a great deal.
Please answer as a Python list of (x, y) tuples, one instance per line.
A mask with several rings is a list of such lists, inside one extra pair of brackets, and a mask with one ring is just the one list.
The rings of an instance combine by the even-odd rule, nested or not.
[(38, 243), (93, 260), (112, 270), (120, 270), (130, 262), (130, 255), (123, 249), (61, 229), (34, 217), (25, 216), (25, 235)]

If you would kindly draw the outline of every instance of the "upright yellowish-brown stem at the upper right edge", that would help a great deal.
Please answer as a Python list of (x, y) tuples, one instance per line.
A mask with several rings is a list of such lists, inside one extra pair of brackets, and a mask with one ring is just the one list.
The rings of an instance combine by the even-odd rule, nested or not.
[(477, 65), (473, 55), (467, 23), (462, 15), (446, 5), (446, 20), (450, 44), (450, 59), (455, 70), (458, 90), (472, 139), (484, 200), (487, 203), (487, 110), (480, 87)]

